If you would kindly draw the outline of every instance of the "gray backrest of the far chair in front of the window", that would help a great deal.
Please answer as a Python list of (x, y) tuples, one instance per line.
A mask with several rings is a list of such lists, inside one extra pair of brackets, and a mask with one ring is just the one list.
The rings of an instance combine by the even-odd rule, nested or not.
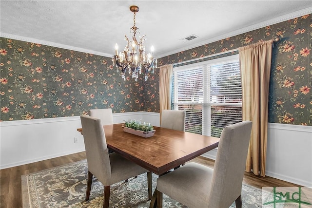
[(160, 127), (185, 131), (185, 111), (163, 110)]

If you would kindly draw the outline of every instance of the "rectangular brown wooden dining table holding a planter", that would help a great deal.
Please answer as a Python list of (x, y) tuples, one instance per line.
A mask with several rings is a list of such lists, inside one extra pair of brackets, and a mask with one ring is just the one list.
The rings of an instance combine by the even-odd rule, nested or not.
[[(161, 127), (152, 137), (124, 132), (122, 124), (103, 126), (109, 149), (137, 165), (162, 175), (218, 146), (219, 138)], [(83, 130), (77, 129), (83, 134)], [(150, 207), (156, 207), (154, 193)]]

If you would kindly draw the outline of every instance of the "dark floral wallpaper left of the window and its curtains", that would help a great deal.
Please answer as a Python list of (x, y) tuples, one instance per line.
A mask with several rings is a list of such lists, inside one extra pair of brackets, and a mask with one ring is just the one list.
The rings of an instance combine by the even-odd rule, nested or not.
[(143, 76), (124, 81), (110, 57), (8, 38), (0, 44), (1, 121), (85, 115), (93, 108), (144, 111), (145, 99), (147, 111), (159, 109), (155, 74), (145, 93)]

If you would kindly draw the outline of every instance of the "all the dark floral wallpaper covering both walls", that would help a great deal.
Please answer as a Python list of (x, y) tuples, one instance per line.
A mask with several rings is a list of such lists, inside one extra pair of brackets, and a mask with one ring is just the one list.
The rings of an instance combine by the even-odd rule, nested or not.
[[(269, 122), (312, 126), (312, 15), (290, 19), (167, 57), (158, 66), (274, 39)], [(1, 121), (86, 114), (159, 112), (159, 70), (124, 82), (110, 57), (0, 38)]]

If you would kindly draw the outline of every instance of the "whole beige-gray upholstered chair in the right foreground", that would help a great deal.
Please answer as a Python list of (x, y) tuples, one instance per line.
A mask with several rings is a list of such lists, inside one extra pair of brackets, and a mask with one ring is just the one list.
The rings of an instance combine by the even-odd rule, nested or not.
[(157, 179), (157, 207), (162, 193), (190, 208), (242, 207), (241, 189), (252, 122), (227, 126), (220, 137), (215, 168), (191, 162)]

